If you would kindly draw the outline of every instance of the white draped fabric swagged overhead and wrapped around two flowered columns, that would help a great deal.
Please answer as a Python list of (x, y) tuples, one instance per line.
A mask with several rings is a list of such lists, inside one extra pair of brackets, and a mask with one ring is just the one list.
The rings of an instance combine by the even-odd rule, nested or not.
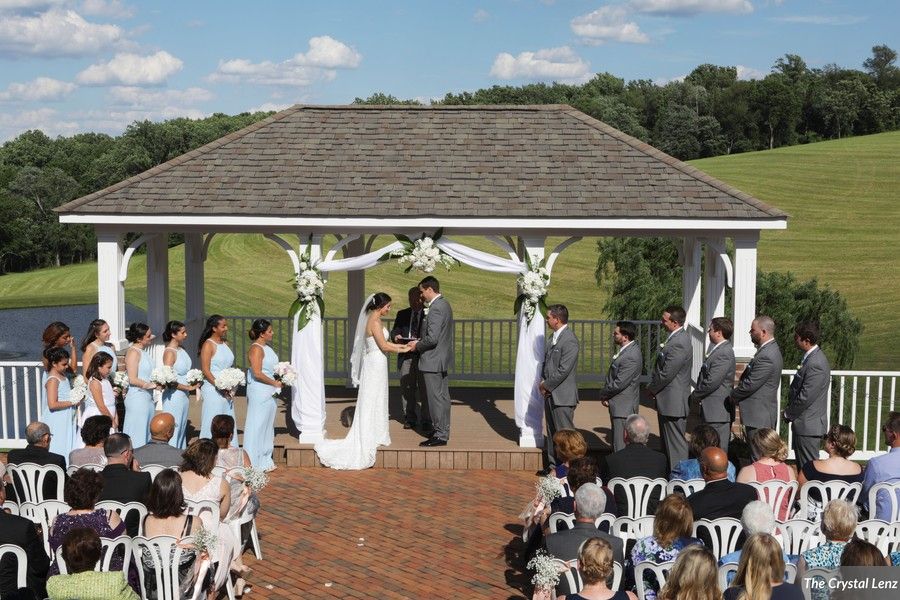
[[(512, 274), (527, 270), (525, 263), (518, 259), (502, 258), (447, 238), (438, 239), (435, 245), (460, 263), (477, 269)], [(368, 269), (377, 265), (378, 259), (385, 253), (401, 248), (403, 244), (393, 242), (368, 254), (322, 261), (316, 266), (325, 273)], [(297, 385), (294, 386), (291, 415), (301, 431), (300, 441), (315, 443), (325, 434), (325, 362), (321, 317), (310, 319), (300, 331), (296, 331), (296, 327), (295, 317), (291, 363), (297, 372)], [(514, 398), (516, 425), (526, 439), (539, 440), (543, 431), (544, 401), (538, 390), (543, 359), (544, 322), (534, 318), (531, 323), (526, 323), (520, 312)]]

